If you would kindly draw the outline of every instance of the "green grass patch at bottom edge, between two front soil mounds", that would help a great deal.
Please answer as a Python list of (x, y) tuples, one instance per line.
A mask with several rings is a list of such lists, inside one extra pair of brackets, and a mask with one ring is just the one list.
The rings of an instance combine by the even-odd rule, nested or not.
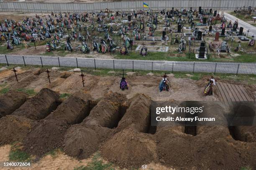
[(95, 153), (92, 158), (92, 162), (90, 162), (87, 166), (80, 166), (74, 168), (74, 170), (114, 170), (111, 163), (103, 163), (100, 160), (100, 154)]

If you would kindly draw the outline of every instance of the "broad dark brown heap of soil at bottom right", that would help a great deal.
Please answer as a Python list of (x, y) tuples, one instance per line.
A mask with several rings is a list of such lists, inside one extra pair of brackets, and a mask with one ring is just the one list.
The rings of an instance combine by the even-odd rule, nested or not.
[(237, 150), (239, 147), (223, 138), (209, 138), (206, 133), (192, 136), (177, 133), (172, 128), (158, 131), (156, 138), (159, 160), (166, 166), (185, 170), (193, 167), (235, 170), (242, 166), (241, 152)]

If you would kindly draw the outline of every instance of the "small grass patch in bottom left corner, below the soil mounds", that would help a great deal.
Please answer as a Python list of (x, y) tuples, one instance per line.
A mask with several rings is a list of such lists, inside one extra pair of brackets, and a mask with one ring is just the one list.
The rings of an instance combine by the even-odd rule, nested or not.
[(20, 150), (20, 146), (17, 143), (14, 143), (11, 147), (9, 154), (10, 161), (20, 161), (20, 162), (28, 162), (30, 160), (30, 155), (28, 153)]

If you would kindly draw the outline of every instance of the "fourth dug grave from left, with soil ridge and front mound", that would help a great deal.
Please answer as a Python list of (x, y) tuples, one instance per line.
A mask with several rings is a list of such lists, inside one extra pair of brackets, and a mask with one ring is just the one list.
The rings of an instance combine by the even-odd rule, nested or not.
[(108, 92), (82, 123), (67, 130), (64, 151), (79, 159), (88, 158), (95, 153), (99, 144), (111, 135), (110, 128), (114, 128), (123, 116), (123, 100), (123, 95)]

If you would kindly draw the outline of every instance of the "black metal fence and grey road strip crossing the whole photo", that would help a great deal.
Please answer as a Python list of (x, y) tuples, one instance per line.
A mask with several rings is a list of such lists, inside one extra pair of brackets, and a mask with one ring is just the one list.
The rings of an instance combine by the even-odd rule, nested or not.
[(96, 59), (83, 57), (53, 57), (40, 55), (0, 55), (0, 65), (24, 65), (40, 67), (79, 67), (108, 70), (150, 72), (181, 72), (210, 74), (256, 74), (256, 63), (233, 62), (176, 62), (154, 60)]

